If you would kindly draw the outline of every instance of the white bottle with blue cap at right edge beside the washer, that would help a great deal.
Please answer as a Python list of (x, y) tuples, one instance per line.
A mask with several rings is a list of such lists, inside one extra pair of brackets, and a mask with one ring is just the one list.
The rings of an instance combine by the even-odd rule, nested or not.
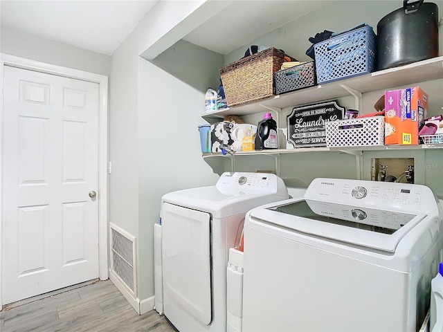
[(429, 331), (443, 332), (443, 262), (431, 280), (431, 315)]

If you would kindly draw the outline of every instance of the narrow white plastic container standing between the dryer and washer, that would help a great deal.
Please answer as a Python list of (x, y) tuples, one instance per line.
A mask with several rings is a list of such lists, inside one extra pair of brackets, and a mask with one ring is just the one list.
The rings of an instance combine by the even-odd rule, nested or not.
[(242, 331), (243, 317), (243, 252), (229, 249), (227, 268), (227, 326), (228, 332)]

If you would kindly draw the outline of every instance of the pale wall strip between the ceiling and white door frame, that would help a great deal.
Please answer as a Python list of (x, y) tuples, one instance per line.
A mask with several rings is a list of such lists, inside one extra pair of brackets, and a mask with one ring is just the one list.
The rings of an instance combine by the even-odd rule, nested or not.
[(111, 57), (28, 33), (1, 27), (1, 52), (80, 71), (107, 75)]

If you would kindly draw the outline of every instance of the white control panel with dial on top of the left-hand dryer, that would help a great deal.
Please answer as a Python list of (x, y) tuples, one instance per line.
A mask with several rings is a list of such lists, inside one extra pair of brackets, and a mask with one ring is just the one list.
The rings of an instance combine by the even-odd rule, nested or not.
[(268, 173), (225, 172), (221, 174), (215, 186), (221, 192), (241, 190), (246, 194), (269, 192), (282, 196), (288, 195), (283, 180), (275, 174)]

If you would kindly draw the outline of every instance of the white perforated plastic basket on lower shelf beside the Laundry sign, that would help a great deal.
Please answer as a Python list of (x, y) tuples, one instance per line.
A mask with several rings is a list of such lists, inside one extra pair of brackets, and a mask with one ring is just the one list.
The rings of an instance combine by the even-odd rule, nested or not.
[(327, 147), (384, 145), (384, 116), (329, 121), (325, 127)]

